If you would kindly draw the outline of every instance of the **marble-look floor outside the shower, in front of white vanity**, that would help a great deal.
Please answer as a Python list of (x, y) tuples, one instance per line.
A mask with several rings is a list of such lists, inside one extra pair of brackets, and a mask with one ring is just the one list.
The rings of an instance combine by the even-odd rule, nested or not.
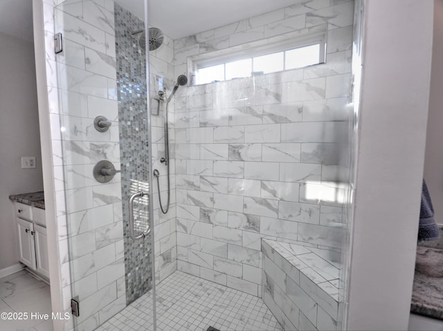
[(0, 312), (27, 312), (28, 319), (20, 321), (0, 319), (0, 330), (52, 331), (53, 321), (31, 319), (31, 312), (51, 316), (49, 285), (38, 281), (26, 271), (0, 278)]

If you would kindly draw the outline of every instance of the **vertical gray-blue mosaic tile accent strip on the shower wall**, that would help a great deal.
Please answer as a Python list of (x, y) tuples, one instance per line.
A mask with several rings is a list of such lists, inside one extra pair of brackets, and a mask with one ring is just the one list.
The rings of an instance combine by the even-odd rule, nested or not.
[[(145, 51), (138, 47), (131, 31), (144, 28), (132, 13), (115, 4), (118, 120), (125, 237), (126, 301), (132, 303), (152, 287), (150, 239), (129, 238), (128, 199), (137, 191), (149, 192), (148, 119)], [(147, 196), (134, 203), (134, 228), (144, 231), (149, 224)]]

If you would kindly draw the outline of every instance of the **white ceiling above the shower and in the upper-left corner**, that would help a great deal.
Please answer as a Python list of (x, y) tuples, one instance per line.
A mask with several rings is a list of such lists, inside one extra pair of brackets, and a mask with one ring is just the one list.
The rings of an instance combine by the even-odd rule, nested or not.
[[(143, 0), (116, 0), (143, 19)], [(300, 0), (148, 0), (150, 26), (172, 39), (291, 6)], [(32, 0), (0, 0), (0, 32), (33, 41)]]

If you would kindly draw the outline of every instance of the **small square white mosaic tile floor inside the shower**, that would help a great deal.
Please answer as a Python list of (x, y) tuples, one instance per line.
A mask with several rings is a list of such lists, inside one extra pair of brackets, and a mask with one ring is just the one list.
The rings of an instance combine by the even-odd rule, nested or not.
[[(282, 330), (262, 299), (183, 272), (156, 288), (157, 330)], [(116, 314), (98, 331), (152, 330), (152, 294)]]

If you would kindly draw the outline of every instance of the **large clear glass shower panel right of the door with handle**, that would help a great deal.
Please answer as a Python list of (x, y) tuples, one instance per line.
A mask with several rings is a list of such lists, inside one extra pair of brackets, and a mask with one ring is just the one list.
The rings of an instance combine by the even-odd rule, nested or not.
[[(237, 21), (226, 15), (186, 33), (186, 21), (197, 21), (182, 15), (188, 9), (208, 21), (233, 10), (207, 3), (165, 13), (150, 1), (150, 22), (164, 32), (150, 52), (150, 91), (161, 105), (151, 113), (161, 179), (152, 196), (157, 330), (341, 330), (354, 1), (272, 1), (260, 15), (236, 8)], [(199, 68), (319, 40), (324, 64), (195, 81)], [(158, 201), (168, 194), (165, 111), (167, 214)]]

